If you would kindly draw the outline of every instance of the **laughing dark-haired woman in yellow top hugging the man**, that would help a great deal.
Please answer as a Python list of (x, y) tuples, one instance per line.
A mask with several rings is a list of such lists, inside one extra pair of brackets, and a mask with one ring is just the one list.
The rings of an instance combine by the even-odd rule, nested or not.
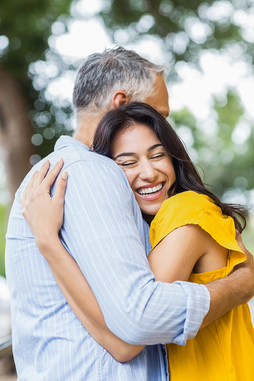
[[(98, 125), (93, 150), (111, 157), (123, 169), (144, 218), (151, 223), (148, 261), (156, 280), (206, 283), (228, 275), (245, 260), (235, 240), (235, 228), (241, 232), (246, 225), (244, 209), (221, 203), (205, 188), (179, 137), (150, 106), (133, 103), (109, 111)], [(40, 172), (44, 177), (45, 168)], [(123, 343), (107, 329), (81, 271), (60, 243), (57, 233), (63, 200), (54, 202), (55, 222), (48, 220), (50, 243), (43, 229), (36, 229), (38, 218), (32, 221), (33, 215), (24, 209), (38, 248), (88, 332), (116, 359), (125, 351), (127, 361), (144, 345)], [(247, 304), (200, 330), (185, 347), (168, 344), (167, 351), (171, 380), (251, 380), (254, 330)]]

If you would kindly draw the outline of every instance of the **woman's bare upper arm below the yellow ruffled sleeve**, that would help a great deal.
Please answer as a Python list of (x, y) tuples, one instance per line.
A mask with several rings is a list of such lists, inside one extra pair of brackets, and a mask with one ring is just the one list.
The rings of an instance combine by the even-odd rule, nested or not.
[(149, 253), (148, 261), (155, 280), (172, 283), (187, 281), (192, 272), (225, 267), (228, 251), (199, 225), (188, 224), (163, 238)]

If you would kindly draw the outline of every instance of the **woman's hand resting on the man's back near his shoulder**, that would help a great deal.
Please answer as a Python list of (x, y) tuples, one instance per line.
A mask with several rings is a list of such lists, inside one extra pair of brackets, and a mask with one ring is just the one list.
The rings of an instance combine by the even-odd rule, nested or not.
[(40, 171), (35, 171), (21, 197), (22, 213), (33, 233), (36, 244), (40, 246), (58, 238), (58, 232), (63, 222), (63, 204), (67, 185), (67, 172), (62, 172), (56, 180), (54, 196), (51, 197), (50, 186), (55, 181), (63, 165), (60, 158), (48, 172), (48, 160)]

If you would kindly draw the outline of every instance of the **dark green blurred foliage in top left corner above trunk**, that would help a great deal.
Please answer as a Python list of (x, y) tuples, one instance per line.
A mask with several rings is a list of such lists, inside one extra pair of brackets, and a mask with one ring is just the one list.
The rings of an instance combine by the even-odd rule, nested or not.
[(67, 0), (1, 2), (1, 34), (10, 40), (2, 62), (21, 82), (29, 81), (26, 77), (29, 63), (44, 57), (50, 26), (60, 14), (67, 12), (69, 3)]

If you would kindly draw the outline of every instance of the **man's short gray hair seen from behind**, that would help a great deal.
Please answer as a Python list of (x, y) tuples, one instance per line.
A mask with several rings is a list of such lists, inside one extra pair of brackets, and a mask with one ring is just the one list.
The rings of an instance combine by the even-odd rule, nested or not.
[(156, 74), (163, 66), (120, 46), (89, 55), (80, 66), (73, 90), (76, 112), (106, 111), (116, 90), (124, 90), (131, 101), (144, 101), (153, 91)]

